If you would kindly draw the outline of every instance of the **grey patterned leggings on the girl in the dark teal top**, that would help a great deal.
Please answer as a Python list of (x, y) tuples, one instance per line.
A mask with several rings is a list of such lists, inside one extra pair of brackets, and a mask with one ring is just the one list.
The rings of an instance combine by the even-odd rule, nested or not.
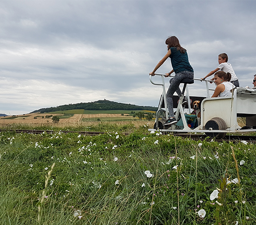
[(181, 96), (181, 90), (179, 89), (179, 85), (180, 85), (180, 81), (184, 78), (193, 79), (194, 73), (189, 71), (182, 71), (180, 73), (176, 73), (175, 77), (173, 77), (170, 80), (170, 86), (166, 93), (167, 107), (168, 107), (170, 117), (174, 117), (172, 96), (175, 91), (179, 97)]

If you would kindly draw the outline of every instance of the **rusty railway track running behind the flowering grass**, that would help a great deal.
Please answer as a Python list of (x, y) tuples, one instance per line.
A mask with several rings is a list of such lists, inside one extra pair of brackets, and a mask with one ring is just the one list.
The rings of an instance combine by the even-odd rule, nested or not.
[[(29, 133), (29, 134), (42, 134), (42, 133), (55, 133), (58, 131), (52, 131), (52, 130), (21, 130), (21, 129), (15, 129), (15, 130), (9, 130), (9, 129), (0, 129), (0, 132), (16, 132), (16, 133)], [(100, 134), (105, 134), (105, 132), (90, 132), (90, 131), (59, 131), (62, 133), (78, 133), (82, 135), (88, 135), (88, 136), (95, 136)], [(124, 135), (129, 135), (130, 133), (123, 133)], [(204, 134), (191, 134), (191, 133), (173, 133), (175, 136), (183, 137), (183, 138), (191, 138), (193, 140), (209, 140), (211, 141), (212, 138), (207, 137), (207, 135)], [(224, 139), (215, 139), (217, 142), (223, 142), (223, 141), (231, 141), (231, 142), (237, 142), (237, 141), (247, 141), (256, 143), (256, 136), (249, 136), (249, 135), (226, 135)]]

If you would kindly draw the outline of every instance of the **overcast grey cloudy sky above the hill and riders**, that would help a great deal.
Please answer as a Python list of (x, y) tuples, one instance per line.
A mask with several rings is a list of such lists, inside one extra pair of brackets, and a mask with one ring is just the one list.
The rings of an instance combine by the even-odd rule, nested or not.
[[(170, 35), (195, 77), (226, 52), (240, 86), (252, 87), (255, 10), (255, 0), (1, 0), (0, 113), (102, 99), (158, 106), (162, 89), (148, 73)], [(171, 69), (166, 60), (157, 72)], [(189, 87), (206, 95), (200, 81)]]

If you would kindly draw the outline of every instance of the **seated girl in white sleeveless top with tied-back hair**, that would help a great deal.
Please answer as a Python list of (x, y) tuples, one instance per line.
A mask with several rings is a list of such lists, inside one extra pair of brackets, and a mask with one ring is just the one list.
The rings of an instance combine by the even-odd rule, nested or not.
[(217, 87), (215, 88), (214, 94), (212, 97), (223, 97), (223, 96), (231, 96), (232, 90), (235, 86), (233, 83), (229, 82), (231, 79), (230, 73), (225, 73), (224, 71), (218, 71), (214, 74), (214, 82)]

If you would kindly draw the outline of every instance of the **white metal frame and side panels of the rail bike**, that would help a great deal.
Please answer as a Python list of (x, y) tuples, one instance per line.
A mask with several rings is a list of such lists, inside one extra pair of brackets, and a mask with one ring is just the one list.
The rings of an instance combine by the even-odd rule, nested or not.
[[(157, 76), (161, 76), (161, 83), (155, 83), (152, 80), (152, 76), (150, 75), (150, 82), (154, 85), (162, 86), (162, 94), (160, 98), (160, 102), (158, 105), (158, 110), (156, 112), (156, 120), (155, 125), (156, 129), (148, 129), (149, 131), (162, 131), (162, 132), (207, 132), (207, 133), (232, 133), (232, 132), (256, 132), (256, 89), (251, 88), (243, 88), (243, 87), (235, 87), (233, 89), (232, 97), (210, 97), (210, 91), (214, 91), (215, 89), (209, 88), (209, 82), (212, 80), (201, 80), (199, 78), (194, 78), (195, 81), (205, 82), (207, 97), (203, 99), (201, 102), (201, 124), (194, 129), (189, 128), (186, 118), (184, 107), (182, 107), (182, 98), (180, 97), (177, 110), (175, 113), (176, 120), (181, 115), (181, 120), (183, 124), (183, 129), (177, 129), (176, 125), (172, 125), (169, 128), (159, 129), (159, 115), (160, 112), (165, 112), (165, 118), (168, 118), (168, 108), (166, 102), (166, 92), (165, 92), (165, 74), (155, 73)], [(175, 75), (171, 75), (174, 77)], [(193, 84), (189, 84), (186, 86), (186, 100), (190, 102), (189, 96), (189, 86)], [(163, 104), (164, 103), (164, 104)], [(162, 106), (164, 107), (162, 108)], [(191, 112), (190, 104), (188, 104), (189, 114)], [(208, 130), (205, 129), (207, 121), (212, 118), (221, 118), (227, 125), (227, 129), (225, 130)], [(245, 117), (246, 123), (247, 120), (253, 125), (253, 128), (243, 128), (238, 126), (237, 118)], [(247, 124), (246, 124), (247, 125)]]

